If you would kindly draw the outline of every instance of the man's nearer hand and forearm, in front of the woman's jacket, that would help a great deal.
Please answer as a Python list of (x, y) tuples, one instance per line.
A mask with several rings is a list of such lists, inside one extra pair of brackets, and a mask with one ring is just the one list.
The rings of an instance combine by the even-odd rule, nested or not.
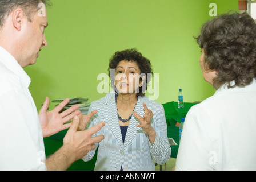
[(98, 123), (98, 125), (84, 131), (77, 131), (78, 125), (79, 118), (75, 116), (70, 129), (63, 139), (63, 146), (46, 159), (47, 170), (66, 170), (76, 160), (81, 159), (89, 151), (94, 150), (96, 147), (95, 143), (101, 142), (104, 139), (104, 135), (91, 136), (99, 131), (105, 125), (105, 122)]

